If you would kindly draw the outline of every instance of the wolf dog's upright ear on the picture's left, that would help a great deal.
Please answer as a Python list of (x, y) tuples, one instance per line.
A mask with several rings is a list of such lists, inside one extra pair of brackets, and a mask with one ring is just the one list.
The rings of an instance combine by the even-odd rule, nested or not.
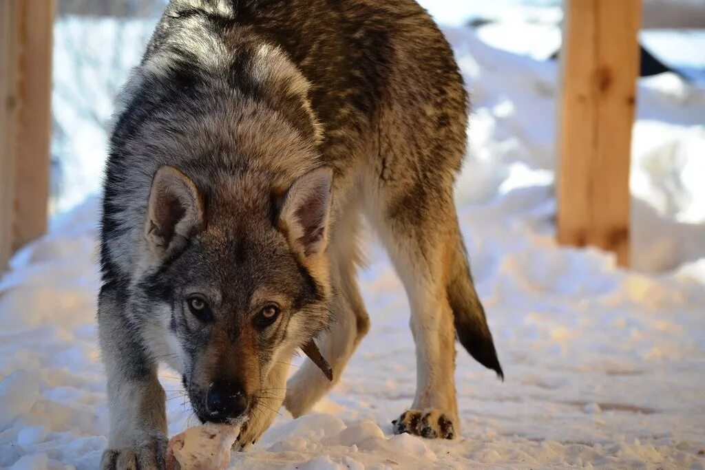
[(204, 226), (204, 205), (195, 184), (176, 168), (162, 166), (152, 180), (145, 240), (159, 257), (185, 247)]

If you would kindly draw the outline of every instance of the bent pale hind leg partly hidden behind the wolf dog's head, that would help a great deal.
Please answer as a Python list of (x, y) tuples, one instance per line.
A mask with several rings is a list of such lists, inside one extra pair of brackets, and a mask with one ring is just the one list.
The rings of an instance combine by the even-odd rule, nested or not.
[(331, 234), (329, 247), (331, 280), (336, 292), (331, 305), (333, 322), (319, 342), (321, 354), (333, 369), (333, 382), (306, 358), (302, 369), (287, 383), (286, 409), (295, 417), (309, 411), (341, 378), (350, 355), (369, 330), (369, 316), (355, 280), (355, 269), (360, 261), (356, 237), (359, 212), (349, 208), (345, 214)]

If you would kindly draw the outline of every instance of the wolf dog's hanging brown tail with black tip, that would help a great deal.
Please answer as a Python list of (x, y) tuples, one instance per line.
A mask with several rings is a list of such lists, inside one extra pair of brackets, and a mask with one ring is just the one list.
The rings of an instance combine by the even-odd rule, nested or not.
[(470, 263), (467, 261), (467, 252), (457, 224), (452, 243), (453, 254), (450, 256), (447, 288), (458, 340), (475, 360), (486, 368), (494, 370), (497, 376), (504, 380), (502, 366), (494, 349), (492, 333), (489, 331), (482, 303), (472, 283)]

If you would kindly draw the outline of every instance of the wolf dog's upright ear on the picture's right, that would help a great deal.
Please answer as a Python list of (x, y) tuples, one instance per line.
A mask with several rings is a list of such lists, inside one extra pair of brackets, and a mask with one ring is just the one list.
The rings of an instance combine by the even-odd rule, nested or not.
[(324, 252), (328, 242), (333, 170), (316, 168), (294, 181), (284, 195), (279, 226), (305, 256)]

